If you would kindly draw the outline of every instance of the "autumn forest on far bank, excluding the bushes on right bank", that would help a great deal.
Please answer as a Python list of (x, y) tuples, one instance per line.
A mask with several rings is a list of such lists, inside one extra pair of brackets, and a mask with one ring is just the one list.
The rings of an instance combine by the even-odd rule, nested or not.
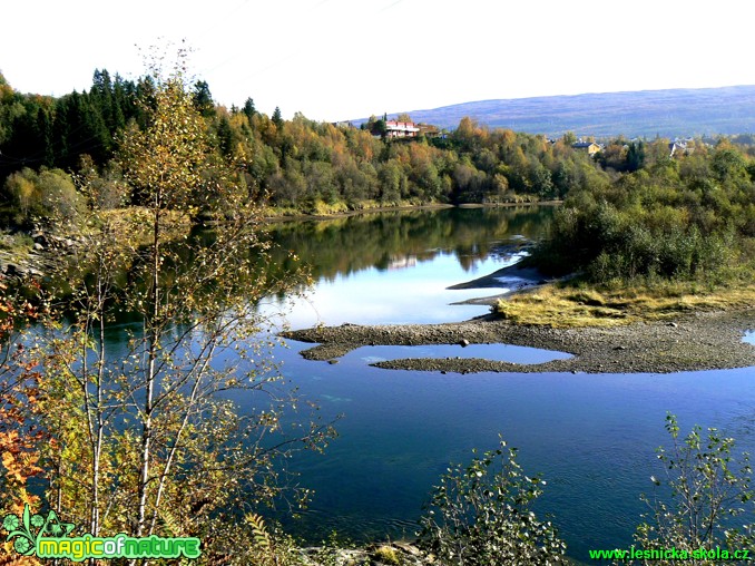
[[(149, 78), (135, 82), (97, 70), (89, 91), (51, 98), (21, 95), (0, 77), (3, 223), (23, 226), (45, 216), (50, 193), (62, 192), (66, 205), (79, 206), (70, 175), (80, 172), (99, 177), (99, 206), (138, 205), (138, 195), (124, 194), (112, 155), (124, 131), (144, 127), (137, 100), (154, 88)], [(283, 120), (277, 108), (267, 116), (252, 98), (228, 109), (213, 101), (204, 81), (192, 96), (215, 157), (236, 164), (251, 197), (271, 208), (316, 213), (555, 199), (601, 175), (563, 142), (488, 130), (469, 118), (450, 135), (402, 143), (300, 114)]]

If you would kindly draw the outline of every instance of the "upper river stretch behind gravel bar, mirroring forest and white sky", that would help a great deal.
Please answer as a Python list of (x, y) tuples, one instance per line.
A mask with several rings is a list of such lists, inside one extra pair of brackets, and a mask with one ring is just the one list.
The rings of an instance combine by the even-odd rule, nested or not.
[[(273, 225), (269, 237), (311, 266), (315, 284), (303, 299), (272, 297), (263, 310), (287, 312), (292, 328), (484, 314), (486, 306), (449, 305), (493, 291), (447, 287), (519, 261), (522, 246), (543, 234), (551, 215), (550, 207), (453, 208)], [(284, 255), (272, 263), (294, 269)]]

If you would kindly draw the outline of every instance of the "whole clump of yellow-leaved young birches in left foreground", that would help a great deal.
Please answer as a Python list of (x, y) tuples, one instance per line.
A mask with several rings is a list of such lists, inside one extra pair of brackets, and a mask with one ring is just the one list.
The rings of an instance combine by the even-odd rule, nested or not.
[[(67, 316), (36, 335), (41, 418), (56, 423), (42, 460), (51, 505), (91, 533), (199, 536), (207, 554), (229, 555), (244, 538), (232, 502), (269, 501), (283, 482), (276, 459), (321, 447), (330, 429), (281, 423), (296, 399), (256, 303), (305, 280), (266, 274), (257, 209), (241, 168), (212, 147), (185, 60), (179, 51), (167, 76), (150, 67), (145, 127), (119, 140), (121, 182), (143, 207), (112, 215), (90, 198), (88, 228), (60, 257), (66, 286), (47, 302)], [(97, 195), (96, 175), (78, 180)], [(218, 195), (228, 213), (212, 231), (193, 225)], [(107, 333), (125, 314), (140, 328), (119, 349)], [(242, 390), (256, 410), (229, 400)]]

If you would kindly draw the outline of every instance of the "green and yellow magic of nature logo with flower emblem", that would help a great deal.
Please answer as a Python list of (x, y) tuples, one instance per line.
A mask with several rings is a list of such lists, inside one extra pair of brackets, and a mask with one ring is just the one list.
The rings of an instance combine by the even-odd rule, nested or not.
[(197, 558), (202, 552), (196, 537), (130, 537), (119, 533), (112, 537), (96, 537), (91, 534), (69, 536), (73, 523), (60, 520), (56, 511), (32, 514), (29, 505), (23, 513), (8, 514), (2, 519), (8, 533), (6, 543), (12, 543), (13, 550), (22, 556), (73, 562), (110, 558)]

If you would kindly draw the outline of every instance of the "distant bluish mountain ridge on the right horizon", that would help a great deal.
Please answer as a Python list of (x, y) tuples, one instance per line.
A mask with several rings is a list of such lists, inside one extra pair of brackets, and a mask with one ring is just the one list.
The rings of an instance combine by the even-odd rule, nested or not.
[(448, 129), (469, 116), (490, 127), (548, 136), (752, 134), (755, 86), (481, 100), (409, 114), (414, 121)]

